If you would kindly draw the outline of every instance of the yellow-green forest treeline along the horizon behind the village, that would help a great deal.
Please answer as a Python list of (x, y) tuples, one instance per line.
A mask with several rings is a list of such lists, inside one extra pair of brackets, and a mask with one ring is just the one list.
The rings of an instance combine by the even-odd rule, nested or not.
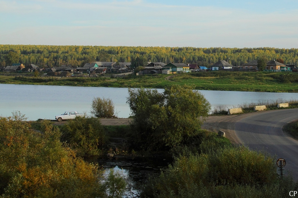
[(79, 45), (0, 45), (0, 66), (11, 63), (9, 52), (19, 56), (19, 63), (50, 67), (59, 65), (83, 66), (93, 61), (132, 62), (142, 58), (151, 62), (198, 63), (210, 66), (219, 60), (234, 66), (266, 57), (267, 60), (282, 59), (284, 64), (298, 65), (298, 49), (225, 48), (225, 47), (128, 47), (128, 46), (79, 46)]

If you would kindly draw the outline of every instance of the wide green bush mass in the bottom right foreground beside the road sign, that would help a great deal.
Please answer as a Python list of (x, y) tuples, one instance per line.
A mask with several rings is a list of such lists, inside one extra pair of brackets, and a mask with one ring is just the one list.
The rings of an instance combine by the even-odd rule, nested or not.
[(239, 147), (180, 156), (141, 197), (287, 197), (294, 189), (291, 177), (278, 178), (272, 157)]

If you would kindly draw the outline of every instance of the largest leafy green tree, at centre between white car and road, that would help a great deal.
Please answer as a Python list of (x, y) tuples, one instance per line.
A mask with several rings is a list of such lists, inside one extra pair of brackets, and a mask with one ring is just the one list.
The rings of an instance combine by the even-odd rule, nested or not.
[(176, 147), (197, 135), (210, 110), (209, 102), (192, 86), (172, 85), (164, 93), (150, 89), (129, 89), (133, 121), (132, 142), (145, 150)]

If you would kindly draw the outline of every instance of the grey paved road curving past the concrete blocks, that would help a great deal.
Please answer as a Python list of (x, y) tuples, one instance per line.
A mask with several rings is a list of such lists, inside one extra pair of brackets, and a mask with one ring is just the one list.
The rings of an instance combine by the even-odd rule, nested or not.
[(284, 158), (285, 169), (298, 180), (298, 141), (283, 133), (283, 126), (298, 119), (298, 109), (265, 111), (235, 123), (235, 134), (252, 150), (264, 150)]

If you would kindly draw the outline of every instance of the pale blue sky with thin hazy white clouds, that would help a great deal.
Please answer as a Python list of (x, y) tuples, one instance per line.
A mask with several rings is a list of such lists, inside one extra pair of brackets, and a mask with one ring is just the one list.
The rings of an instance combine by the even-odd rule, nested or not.
[(298, 0), (0, 0), (0, 45), (298, 48)]

